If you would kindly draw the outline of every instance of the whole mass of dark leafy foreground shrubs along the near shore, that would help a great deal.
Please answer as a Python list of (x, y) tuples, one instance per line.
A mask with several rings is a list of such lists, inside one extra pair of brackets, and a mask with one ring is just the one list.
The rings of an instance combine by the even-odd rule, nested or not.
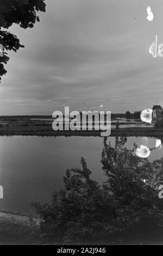
[(112, 147), (104, 139), (104, 184), (91, 179), (82, 158), (82, 169), (67, 170), (65, 189), (53, 194), (52, 204), (34, 204), (43, 242), (162, 242), (163, 204), (157, 189), (163, 184), (163, 158), (149, 162), (137, 157), (136, 144), (130, 150), (126, 142), (116, 135)]

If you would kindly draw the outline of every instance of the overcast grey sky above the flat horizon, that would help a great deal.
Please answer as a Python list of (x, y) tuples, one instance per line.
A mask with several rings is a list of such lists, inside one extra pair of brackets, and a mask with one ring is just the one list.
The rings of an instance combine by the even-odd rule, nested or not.
[[(156, 35), (163, 44), (162, 0), (46, 4), (34, 28), (10, 27), (25, 48), (8, 53), (1, 115), (163, 107), (163, 57), (148, 52)], [(148, 6), (153, 21), (146, 19)]]

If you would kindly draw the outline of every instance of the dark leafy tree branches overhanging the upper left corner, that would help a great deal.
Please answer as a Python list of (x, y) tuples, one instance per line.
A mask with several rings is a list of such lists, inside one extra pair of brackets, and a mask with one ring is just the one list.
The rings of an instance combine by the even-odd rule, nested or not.
[(9, 57), (7, 51), (17, 51), (21, 45), (16, 35), (8, 29), (16, 23), (21, 28), (33, 28), (35, 22), (39, 22), (38, 11), (46, 11), (45, 0), (0, 0), (0, 44), (4, 47), (4, 56), (0, 57), (0, 81), (7, 73), (4, 64), (7, 64)]

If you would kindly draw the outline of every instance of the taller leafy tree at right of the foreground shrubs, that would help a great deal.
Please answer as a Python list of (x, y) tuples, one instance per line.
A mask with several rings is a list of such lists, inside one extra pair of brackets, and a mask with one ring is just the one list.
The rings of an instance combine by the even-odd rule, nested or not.
[(121, 227), (124, 237), (133, 240), (140, 237), (140, 242), (147, 242), (155, 237), (159, 241), (163, 232), (163, 204), (158, 197), (158, 186), (163, 184), (163, 158), (149, 162), (137, 157), (136, 144), (129, 150), (124, 147), (126, 142), (125, 136), (116, 136), (112, 148), (105, 138), (102, 153), (108, 179), (105, 187), (115, 199), (118, 228)]

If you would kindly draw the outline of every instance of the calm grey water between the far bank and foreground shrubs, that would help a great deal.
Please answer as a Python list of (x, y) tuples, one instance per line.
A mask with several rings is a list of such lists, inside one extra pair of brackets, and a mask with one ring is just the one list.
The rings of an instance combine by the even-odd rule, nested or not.
[[(115, 138), (108, 141), (115, 144)], [(133, 143), (155, 147), (156, 138), (130, 137), (127, 147)], [(64, 184), (65, 170), (79, 167), (81, 157), (87, 161), (92, 178), (104, 181), (101, 166), (103, 138), (101, 137), (0, 137), (0, 185), (4, 189), (4, 199), (0, 209), (34, 213), (30, 203), (49, 202), (54, 190)], [(150, 161), (160, 159), (163, 148), (151, 151)]]

